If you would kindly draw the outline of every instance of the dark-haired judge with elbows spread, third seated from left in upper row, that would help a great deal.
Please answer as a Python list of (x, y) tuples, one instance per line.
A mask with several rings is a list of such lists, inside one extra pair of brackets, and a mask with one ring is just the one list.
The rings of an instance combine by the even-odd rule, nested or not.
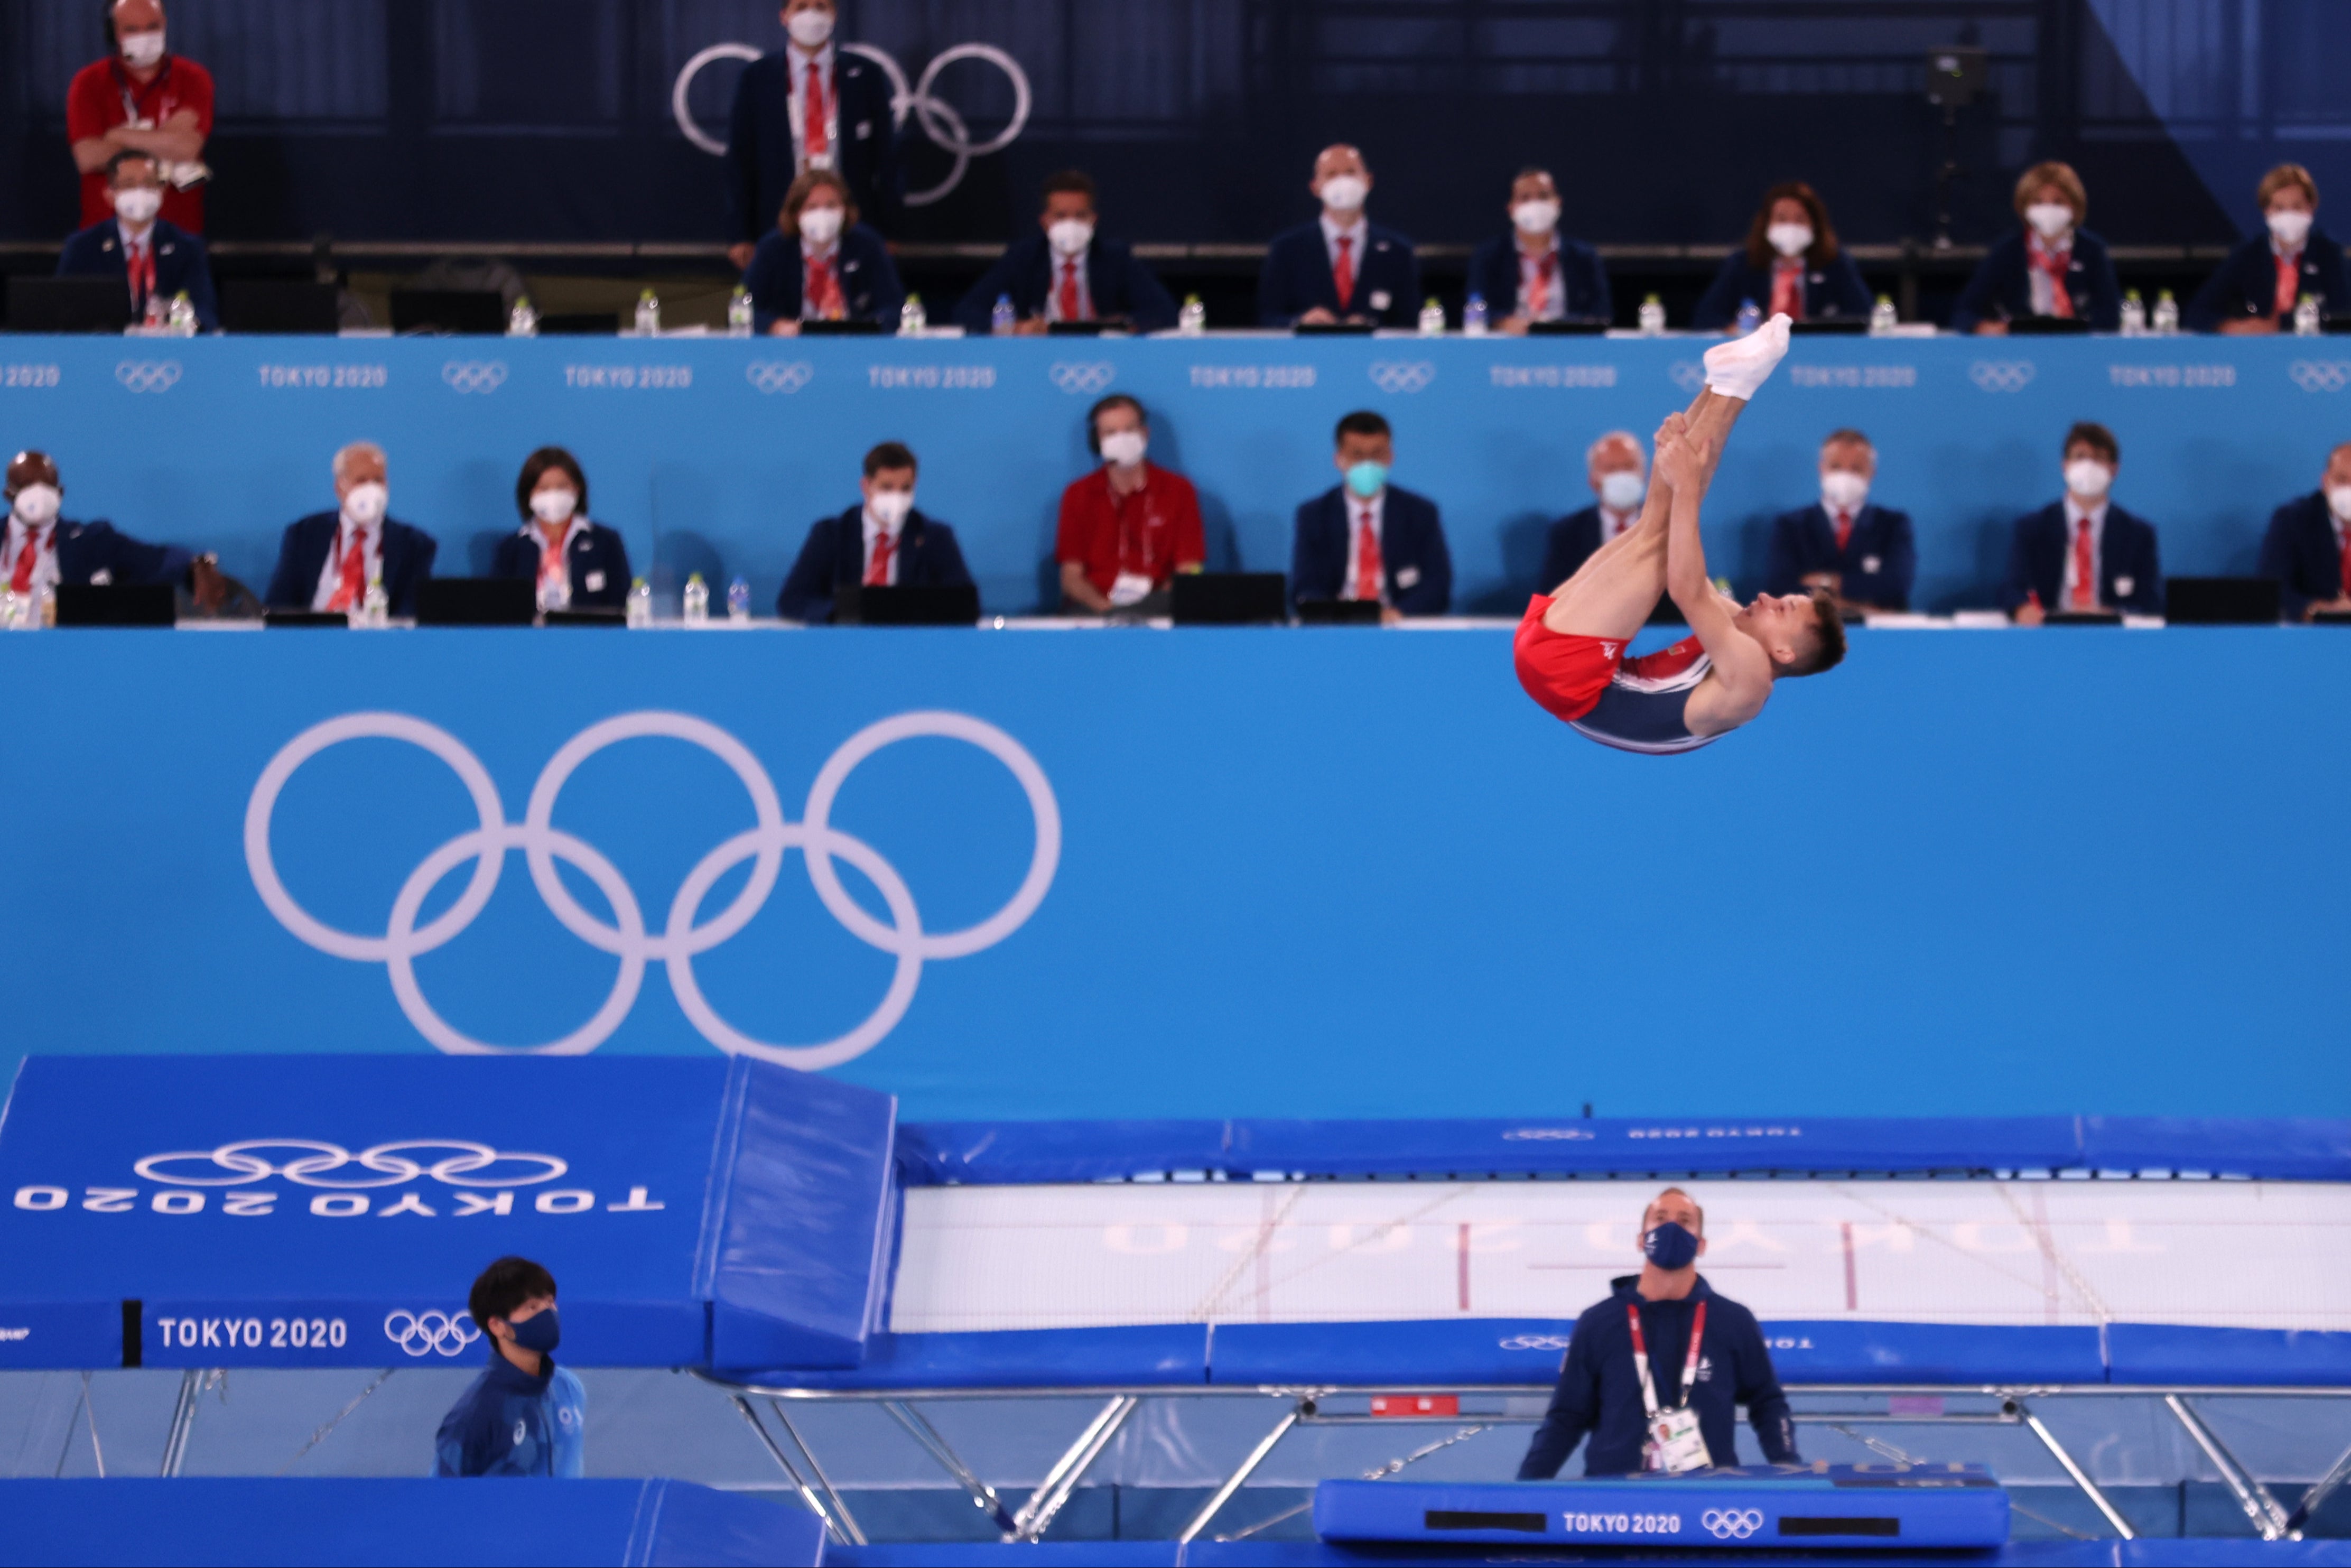
[(971, 334), (992, 331), (999, 299), (1013, 301), (1013, 331), (1020, 334), (1051, 322), (1114, 322), (1133, 331), (1176, 324), (1176, 301), (1136, 261), (1136, 247), (1096, 233), (1093, 179), (1079, 169), (1046, 176), (1037, 233), (1004, 247), (955, 306), (955, 320)]

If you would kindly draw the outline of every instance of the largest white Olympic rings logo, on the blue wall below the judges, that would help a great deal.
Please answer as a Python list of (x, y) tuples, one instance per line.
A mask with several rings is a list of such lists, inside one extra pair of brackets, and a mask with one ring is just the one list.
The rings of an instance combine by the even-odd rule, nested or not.
[[(670, 903), (668, 924), (661, 931), (647, 931), (637, 896), (611, 860), (583, 839), (555, 827), (555, 799), (583, 762), (602, 752), (607, 745), (649, 736), (698, 745), (724, 762), (750, 795), (752, 813), (757, 818), (757, 827), (726, 839), (703, 856), (703, 860), (686, 875), (675, 900)], [(886, 745), (912, 741), (917, 736), (964, 741), (1002, 762), (1020, 785), (1023, 795), (1027, 795), (1030, 816), (1037, 825), (1037, 849), (1032, 851), (1027, 875), (1013, 891), (1011, 900), (1006, 900), (1004, 907), (987, 919), (962, 931), (924, 931), (922, 914), (915, 907), (915, 896), (907, 891), (905, 879), (898, 877), (898, 870), (870, 844), (842, 832), (830, 820), (832, 804), (839, 797), (842, 785), (849, 783), (849, 773), (860, 762)], [(287, 780), (296, 773), (296, 769), (301, 769), (303, 762), (322, 750), (360, 738), (407, 741), (409, 745), (433, 752), (447, 762), (449, 771), (454, 771), (458, 783), (465, 785), (465, 792), (473, 797), (475, 816), (480, 818), (480, 827), (456, 835), (426, 856), (414, 872), (409, 872), (409, 879), (393, 898), (383, 936), (339, 931), (313, 917), (294, 900), (292, 893), (287, 893), (284, 882), (277, 877), (277, 865), (270, 858), (270, 816), (277, 809), (277, 795), (284, 790)], [(461, 1034), (433, 1011), (433, 1004), (426, 1001), (423, 990), (416, 983), (416, 959), (447, 945), (473, 924), (482, 907), (489, 905), (491, 893), (498, 889), (498, 877), (505, 870), (505, 856), (515, 849), (520, 849), (529, 863), (531, 886), (538, 889), (541, 900), (545, 900), (555, 919), (590, 947), (621, 959), (621, 973), (597, 1013), (571, 1034), (541, 1046), (496, 1046)], [(712, 1009), (703, 997), (701, 983), (694, 978), (694, 959), (734, 938), (766, 905), (766, 896), (776, 886), (776, 872), (783, 867), (788, 849), (799, 849), (806, 858), (809, 882), (816, 886), (816, 896), (823, 900), (825, 910), (832, 912), (832, 917), (842, 922), (842, 926), (846, 926), (860, 943), (898, 959), (896, 971), (891, 973), (889, 992), (865, 1023), (837, 1039), (813, 1046), (778, 1046), (743, 1034), (719, 1018), (717, 1009)], [(465, 884), (465, 891), (454, 905), (449, 905), (449, 910), (418, 926), (416, 922), (426, 896), (430, 896), (451, 870), (468, 860), (473, 860), (473, 877)], [(595, 882), (607, 907), (614, 912), (611, 924), (600, 922), (581, 907), (581, 903), (562, 884), (562, 877), (555, 872), (557, 860), (578, 867), (590, 882)], [(734, 903), (729, 903), (717, 917), (703, 922), (703, 898), (710, 896), (710, 889), (726, 877), (726, 872), (745, 860), (752, 863), (752, 872), (743, 891), (738, 891)], [(872, 886), (882, 893), (882, 903), (889, 907), (889, 924), (868, 914), (865, 907), (849, 896), (842, 886), (842, 875), (835, 860), (846, 860), (868, 882), (872, 882)], [(390, 971), (393, 997), (400, 1001), (400, 1011), (407, 1013), (418, 1034), (433, 1041), (435, 1048), (451, 1056), (583, 1056), (595, 1051), (611, 1037), (614, 1030), (621, 1027), (621, 1020), (628, 1018), (630, 1009), (637, 1004), (637, 990), (644, 983), (644, 966), (658, 959), (668, 966), (670, 992), (677, 997), (679, 1011), (684, 1011), (686, 1020), (703, 1034), (703, 1039), (715, 1044), (719, 1051), (726, 1051), (729, 1056), (757, 1056), (762, 1060), (799, 1070), (835, 1067), (870, 1051), (898, 1025), (900, 1018), (905, 1018), (907, 1006), (915, 1001), (915, 987), (922, 980), (924, 959), (959, 959), (983, 952), (1027, 924), (1027, 917), (1037, 912), (1039, 903), (1044, 903), (1058, 863), (1060, 804), (1053, 799), (1053, 785), (1046, 783), (1044, 769), (1039, 769), (1037, 759), (1002, 729), (962, 712), (900, 712), (853, 733), (837, 752), (832, 752), (832, 757), (825, 759), (825, 766), (818, 769), (816, 783), (809, 785), (809, 799), (802, 809), (799, 823), (785, 820), (783, 806), (776, 799), (773, 780), (741, 741), (729, 736), (717, 724), (682, 712), (625, 712), (621, 717), (604, 719), (602, 724), (590, 724), (581, 733), (571, 736), (571, 741), (555, 752), (548, 766), (538, 773), (538, 780), (531, 785), (531, 799), (522, 823), (505, 820), (505, 809), (498, 802), (498, 785), (491, 783), (489, 769), (484, 769), (456, 736), (435, 724), (397, 712), (350, 712), (339, 719), (327, 719), (324, 724), (313, 724), (303, 733), (287, 741), (287, 745), (270, 757), (268, 766), (261, 769), (261, 778), (254, 783), (252, 799), (245, 806), (245, 865), (252, 872), (254, 891), (261, 893), (261, 903), (277, 917), (277, 924), (320, 952), (339, 959), (383, 964)]]

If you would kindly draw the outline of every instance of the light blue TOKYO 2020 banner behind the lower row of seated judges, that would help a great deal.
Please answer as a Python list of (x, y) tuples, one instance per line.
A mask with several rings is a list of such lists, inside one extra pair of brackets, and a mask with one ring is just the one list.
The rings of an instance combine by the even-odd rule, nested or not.
[[(1291, 517), (1338, 482), (1331, 425), (1396, 425), (1396, 484), (1444, 510), (1455, 609), (1519, 614), (1549, 520), (1592, 505), (1585, 449), (1643, 442), (1700, 383), (1709, 339), (7, 339), (0, 433), (63, 465), (66, 515), (209, 545), (256, 592), (280, 529), (334, 505), (350, 440), (390, 449), (393, 515), (437, 571), (487, 571), (543, 442), (588, 468), (658, 595), (741, 574), (769, 614), (809, 524), (858, 498), (879, 440), (922, 456), (992, 614), (1058, 604), (1060, 489), (1105, 393), (1152, 409), (1152, 458), (1201, 491), (1211, 567), (1284, 571)], [(1878, 447), (1871, 498), (1918, 531), (1916, 609), (1996, 602), (2017, 515), (2057, 501), (2059, 442), (2123, 444), (2114, 496), (2170, 574), (2248, 574), (2269, 512), (2351, 437), (2351, 348), (2302, 339), (1799, 339), (1709, 496), (1719, 574), (1761, 583), (1773, 515), (1820, 496), (1820, 437)], [(136, 430), (136, 442), (122, 433)]]

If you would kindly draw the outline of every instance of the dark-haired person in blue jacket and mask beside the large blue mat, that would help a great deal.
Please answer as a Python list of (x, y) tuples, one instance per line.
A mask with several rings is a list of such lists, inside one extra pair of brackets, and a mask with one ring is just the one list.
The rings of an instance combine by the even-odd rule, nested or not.
[[(442, 1328), (440, 1316), (426, 1312), (416, 1328)], [(578, 1481), (585, 1474), (588, 1392), (555, 1366), (562, 1342), (555, 1276), (529, 1258), (498, 1258), (473, 1281), (465, 1314), (444, 1333), (475, 1324), (489, 1345), (489, 1368), (442, 1418), (433, 1439), (433, 1474)]]

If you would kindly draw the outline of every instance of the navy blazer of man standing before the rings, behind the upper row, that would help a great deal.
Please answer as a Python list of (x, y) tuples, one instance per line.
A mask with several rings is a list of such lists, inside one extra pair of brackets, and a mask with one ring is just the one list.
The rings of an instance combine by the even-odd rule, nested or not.
[[(832, 167), (849, 183), (860, 216), (889, 233), (905, 200), (898, 167), (898, 127), (889, 110), (882, 66), (832, 45), (832, 94), (839, 99), (842, 143)], [(726, 115), (729, 237), (759, 240), (776, 228), (783, 197), (799, 172), (792, 146), (792, 52), (762, 54), (736, 78)]]

